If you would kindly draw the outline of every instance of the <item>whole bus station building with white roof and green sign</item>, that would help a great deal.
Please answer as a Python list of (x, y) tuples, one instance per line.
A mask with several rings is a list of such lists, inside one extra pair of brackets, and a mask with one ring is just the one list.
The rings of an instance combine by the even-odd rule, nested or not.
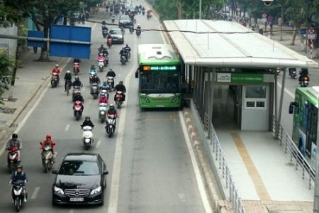
[[(232, 21), (164, 21), (164, 30), (181, 60), (190, 107), (205, 125), (272, 131), (281, 121), (288, 68), (318, 68), (317, 62)], [(283, 76), (280, 97), (277, 67)]]

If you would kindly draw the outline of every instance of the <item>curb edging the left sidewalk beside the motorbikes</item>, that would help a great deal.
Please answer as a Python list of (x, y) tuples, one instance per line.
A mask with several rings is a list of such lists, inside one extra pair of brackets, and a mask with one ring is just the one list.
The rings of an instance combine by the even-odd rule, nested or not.
[[(58, 63), (64, 65), (65, 62), (67, 62), (67, 60), (68, 60), (68, 58), (62, 58), (62, 59), (58, 60)], [(24, 109), (26, 109), (26, 106), (34, 99), (35, 95), (38, 94), (41, 87), (43, 87), (45, 84), (47, 84), (47, 82), (49, 80), (50, 80), (50, 75), (48, 75), (43, 82), (37, 84), (35, 87), (33, 87), (33, 89), (31, 89), (29, 94), (26, 96), (26, 99), (24, 99), (23, 102), (21, 104), (19, 104), (16, 111), (14, 111), (14, 113), (11, 116), (11, 119), (6, 121), (5, 126), (7, 129), (12, 127), (14, 122), (18, 119), (18, 116), (20, 116), (23, 113)], [(0, 141), (7, 139), (7, 138), (5, 138), (5, 137), (7, 137), (6, 133), (7, 133), (6, 130), (0, 132)]]

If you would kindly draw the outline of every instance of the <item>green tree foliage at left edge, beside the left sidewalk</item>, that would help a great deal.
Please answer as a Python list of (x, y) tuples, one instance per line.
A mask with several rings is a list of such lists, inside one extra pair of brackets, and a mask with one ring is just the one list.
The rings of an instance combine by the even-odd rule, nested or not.
[[(4, 90), (9, 89), (11, 83), (12, 69), (16, 65), (16, 60), (5, 50), (0, 50), (0, 96), (4, 94)], [(0, 99), (0, 104), (4, 102)]]

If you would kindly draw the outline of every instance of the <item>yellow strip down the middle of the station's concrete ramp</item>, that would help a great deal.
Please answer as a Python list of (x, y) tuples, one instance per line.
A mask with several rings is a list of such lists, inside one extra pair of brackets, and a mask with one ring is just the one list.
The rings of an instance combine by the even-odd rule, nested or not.
[(254, 183), (254, 187), (256, 189), (257, 195), (260, 200), (272, 200), (268, 194), (266, 187), (264, 186), (264, 182), (262, 182), (262, 178), (260, 177), (257, 168), (254, 166), (254, 162), (252, 162), (252, 158), (250, 158), (250, 154), (248, 153), (244, 143), (242, 143), (242, 139), (238, 135), (238, 133), (230, 133), (237, 146), (237, 150), (242, 157), (242, 161), (247, 168), (248, 174), (250, 178), (252, 178), (252, 182)]

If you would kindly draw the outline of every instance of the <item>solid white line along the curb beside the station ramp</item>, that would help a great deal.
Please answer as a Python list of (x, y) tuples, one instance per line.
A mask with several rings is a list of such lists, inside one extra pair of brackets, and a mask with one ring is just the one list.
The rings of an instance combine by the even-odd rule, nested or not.
[(195, 176), (196, 176), (196, 180), (197, 180), (199, 193), (201, 194), (201, 201), (203, 202), (203, 206), (205, 208), (205, 211), (207, 213), (208, 212), (212, 212), (211, 205), (209, 204), (208, 197), (206, 195), (206, 191), (205, 191), (205, 187), (204, 187), (204, 184), (203, 184), (203, 180), (201, 179), (201, 172), (200, 172), (200, 170), (198, 168), (198, 164), (197, 164), (197, 161), (196, 161), (194, 149), (191, 146), (191, 140), (189, 139), (189, 133), (186, 130), (184, 116), (183, 116), (183, 113), (181, 111), (179, 111), (179, 120), (181, 121), (181, 129), (183, 130), (185, 142), (186, 142), (187, 148), (189, 149), (189, 155), (191, 157), (191, 163), (193, 164), (193, 168), (194, 168), (194, 172), (195, 172)]

